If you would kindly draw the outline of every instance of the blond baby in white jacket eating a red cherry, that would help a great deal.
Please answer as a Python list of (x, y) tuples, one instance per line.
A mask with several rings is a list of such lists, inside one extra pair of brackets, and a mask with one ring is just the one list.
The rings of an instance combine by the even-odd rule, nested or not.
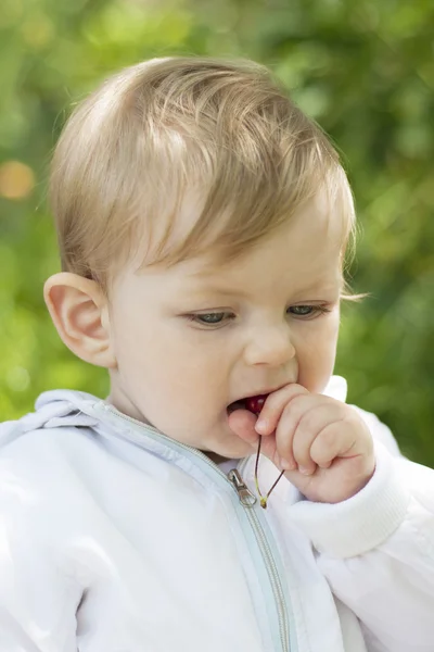
[(0, 652), (433, 652), (434, 472), (332, 376), (320, 128), (258, 64), (152, 60), (76, 109), (51, 204), (44, 299), (111, 389), (0, 426)]

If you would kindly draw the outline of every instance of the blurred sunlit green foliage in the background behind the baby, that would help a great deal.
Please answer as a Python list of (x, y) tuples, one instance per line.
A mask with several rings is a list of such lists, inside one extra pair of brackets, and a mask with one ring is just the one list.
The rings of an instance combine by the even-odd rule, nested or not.
[(270, 65), (344, 152), (360, 224), (336, 372), (404, 452), (434, 466), (434, 4), (432, 0), (2, 0), (0, 421), (43, 390), (105, 396), (42, 300), (59, 271), (44, 192), (72, 104), (155, 55)]

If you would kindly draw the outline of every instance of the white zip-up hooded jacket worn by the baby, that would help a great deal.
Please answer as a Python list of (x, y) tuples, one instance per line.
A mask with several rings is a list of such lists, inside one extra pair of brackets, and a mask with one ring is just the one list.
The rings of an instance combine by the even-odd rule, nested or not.
[(263, 510), (254, 456), (42, 393), (0, 425), (0, 652), (434, 652), (434, 472), (359, 412), (369, 484), (319, 504), (282, 479)]

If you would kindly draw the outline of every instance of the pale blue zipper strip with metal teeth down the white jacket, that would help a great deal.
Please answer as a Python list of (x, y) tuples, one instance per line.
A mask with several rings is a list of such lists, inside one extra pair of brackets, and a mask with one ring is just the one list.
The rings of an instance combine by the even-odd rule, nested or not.
[[(130, 423), (135, 424), (136, 426), (139, 426), (141, 429), (143, 429), (142, 422), (139, 422), (138, 419), (132, 418), (131, 416), (128, 416), (127, 414), (123, 414), (122, 412), (116, 410), (116, 408), (114, 408), (113, 405), (110, 405), (103, 401), (101, 401), (100, 405), (102, 405), (102, 408), (106, 412), (111, 412), (118, 418), (130, 422)], [(158, 439), (163, 439), (164, 441), (166, 441), (168, 443), (169, 447), (174, 448), (173, 439), (170, 439), (169, 437), (167, 437), (166, 435), (164, 435), (163, 432), (161, 432), (153, 426), (149, 426), (146, 424), (145, 428), (152, 430), (155, 435), (158, 436)], [(228, 473), (228, 475), (226, 475), (225, 473), (222, 473), (219, 469), (219, 467), (214, 462), (212, 462), (209, 460), (209, 457), (207, 455), (205, 455), (197, 449), (192, 448), (180, 441), (176, 441), (175, 444), (177, 448), (179, 447), (180, 449), (189, 451), (190, 453), (193, 453), (194, 455), (200, 457), (209, 467), (212, 467), (214, 472), (217, 472), (217, 474), (219, 474), (220, 477), (224, 478), (226, 482), (229, 482), (235, 490), (239, 501), (240, 501), (240, 504), (244, 507), (244, 512), (247, 516), (247, 521), (248, 521), (250, 526), (255, 535), (255, 539), (258, 544), (258, 548), (259, 548), (259, 551), (260, 551), (260, 554), (261, 554), (261, 557), (263, 557), (263, 561), (264, 561), (264, 564), (265, 564), (265, 567), (267, 570), (268, 579), (270, 581), (270, 586), (271, 586), (272, 594), (275, 597), (275, 602), (276, 602), (277, 612), (278, 612), (279, 634), (280, 634), (282, 651), (290, 652), (289, 618), (288, 618), (286, 601), (285, 601), (285, 597), (284, 597), (284, 592), (283, 592), (283, 588), (282, 588), (282, 582), (281, 582), (281, 579), (279, 576), (275, 555), (271, 551), (271, 548), (270, 548), (268, 539), (267, 539), (267, 535), (265, 534), (264, 527), (261, 526), (260, 521), (257, 516), (256, 510), (254, 509), (258, 502), (257, 498), (254, 493), (251, 492), (251, 490), (245, 485), (245, 482), (241, 476), (241, 473), (245, 469), (247, 460), (243, 460), (243, 462), (239, 465), (240, 471), (237, 468), (232, 468)]]

